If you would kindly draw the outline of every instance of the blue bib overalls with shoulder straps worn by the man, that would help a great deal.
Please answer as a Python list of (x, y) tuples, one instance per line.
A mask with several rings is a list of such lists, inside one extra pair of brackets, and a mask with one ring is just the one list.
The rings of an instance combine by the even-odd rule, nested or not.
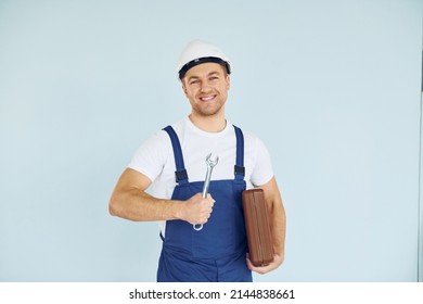
[[(202, 230), (184, 220), (167, 220), (166, 236), (158, 262), (158, 282), (245, 282), (252, 273), (245, 263), (247, 251), (242, 191), (244, 180), (244, 137), (235, 127), (236, 161), (234, 178), (211, 180), (209, 193), (216, 201), (210, 218)], [(175, 155), (177, 186), (172, 200), (188, 200), (203, 190), (204, 181), (189, 182), (181, 145), (175, 130), (168, 126)]]

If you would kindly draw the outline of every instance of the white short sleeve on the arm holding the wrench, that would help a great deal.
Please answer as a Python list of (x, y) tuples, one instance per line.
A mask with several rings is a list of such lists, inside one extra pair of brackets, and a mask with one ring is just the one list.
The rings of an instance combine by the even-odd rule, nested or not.
[(142, 173), (153, 182), (163, 172), (169, 153), (169, 142), (165, 131), (157, 131), (138, 148), (128, 168)]

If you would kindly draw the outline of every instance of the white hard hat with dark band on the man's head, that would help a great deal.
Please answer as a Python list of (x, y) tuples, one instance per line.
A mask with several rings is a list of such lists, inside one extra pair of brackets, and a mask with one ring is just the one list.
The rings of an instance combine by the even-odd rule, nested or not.
[(229, 59), (218, 47), (201, 40), (194, 40), (185, 47), (179, 58), (179, 79), (182, 79), (188, 69), (191, 67), (206, 62), (218, 63), (226, 67), (228, 74), (231, 74)]

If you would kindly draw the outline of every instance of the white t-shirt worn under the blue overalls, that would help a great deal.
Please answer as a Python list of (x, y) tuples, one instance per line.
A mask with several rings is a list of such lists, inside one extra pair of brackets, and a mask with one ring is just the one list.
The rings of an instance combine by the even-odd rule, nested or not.
[[(219, 156), (211, 180), (234, 179), (236, 137), (227, 122), (220, 132), (206, 132), (195, 127), (187, 117), (172, 125), (178, 135), (189, 181), (205, 179), (206, 156)], [(270, 156), (265, 144), (254, 135), (243, 130), (244, 167), (247, 189), (261, 186), (273, 177)], [(170, 199), (176, 187), (176, 164), (170, 137), (159, 130), (136, 152), (128, 167), (142, 173), (153, 182), (149, 192), (157, 199)], [(164, 229), (164, 227), (162, 227)], [(163, 231), (164, 232), (164, 231)]]

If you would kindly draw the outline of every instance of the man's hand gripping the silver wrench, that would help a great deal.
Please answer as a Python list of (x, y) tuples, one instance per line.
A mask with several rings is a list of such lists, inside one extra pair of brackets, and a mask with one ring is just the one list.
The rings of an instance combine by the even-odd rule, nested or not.
[(210, 194), (203, 199), (202, 193), (193, 195), (181, 205), (179, 217), (192, 225), (206, 224), (211, 215), (215, 200)]

